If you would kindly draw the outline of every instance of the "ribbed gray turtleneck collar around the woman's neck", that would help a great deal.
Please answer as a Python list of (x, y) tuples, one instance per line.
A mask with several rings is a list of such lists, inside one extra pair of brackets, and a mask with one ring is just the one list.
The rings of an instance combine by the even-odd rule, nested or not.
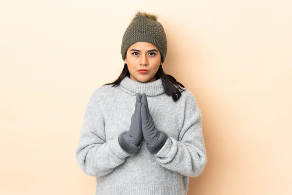
[(153, 82), (138, 82), (126, 76), (120, 82), (120, 85), (124, 91), (132, 95), (136, 95), (137, 93), (140, 93), (140, 94), (145, 93), (146, 96), (158, 96), (164, 93), (164, 88), (163, 88), (161, 78)]

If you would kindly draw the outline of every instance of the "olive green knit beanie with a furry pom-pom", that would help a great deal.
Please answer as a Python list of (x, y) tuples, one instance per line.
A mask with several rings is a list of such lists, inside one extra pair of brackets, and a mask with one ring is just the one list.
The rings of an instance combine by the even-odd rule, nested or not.
[(164, 62), (167, 52), (167, 40), (164, 28), (157, 21), (157, 16), (146, 12), (136, 12), (135, 17), (126, 29), (121, 46), (121, 54), (125, 60), (128, 48), (136, 42), (149, 42), (155, 45)]

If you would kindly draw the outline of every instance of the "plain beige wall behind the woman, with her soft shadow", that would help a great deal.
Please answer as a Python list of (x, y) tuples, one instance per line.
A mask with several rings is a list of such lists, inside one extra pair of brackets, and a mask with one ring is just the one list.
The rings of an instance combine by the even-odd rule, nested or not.
[(196, 96), (208, 164), (188, 195), (292, 194), (290, 0), (0, 0), (0, 195), (93, 195), (74, 152), (136, 10)]

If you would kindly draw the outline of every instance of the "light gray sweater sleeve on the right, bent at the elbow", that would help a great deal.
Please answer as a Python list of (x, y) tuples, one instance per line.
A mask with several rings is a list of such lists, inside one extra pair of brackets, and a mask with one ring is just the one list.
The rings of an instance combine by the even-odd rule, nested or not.
[(189, 92), (183, 128), (178, 140), (168, 137), (162, 149), (155, 155), (161, 166), (184, 176), (195, 177), (201, 174), (207, 162), (201, 117), (196, 99)]

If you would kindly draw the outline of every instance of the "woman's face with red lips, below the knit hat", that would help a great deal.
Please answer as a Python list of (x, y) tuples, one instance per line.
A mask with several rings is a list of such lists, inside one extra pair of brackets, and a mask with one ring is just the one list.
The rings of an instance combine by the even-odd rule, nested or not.
[[(148, 42), (132, 44), (126, 54), (130, 78), (139, 82), (152, 82), (161, 64), (161, 56), (157, 47)], [(146, 72), (139, 70), (145, 69)]]

